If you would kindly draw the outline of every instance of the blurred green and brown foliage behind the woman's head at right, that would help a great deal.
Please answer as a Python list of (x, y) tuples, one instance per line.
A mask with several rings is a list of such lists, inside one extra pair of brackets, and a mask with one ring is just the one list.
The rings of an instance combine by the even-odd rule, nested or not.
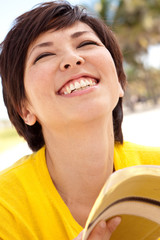
[(115, 32), (122, 49), (129, 82), (127, 100), (136, 95), (156, 104), (160, 70), (146, 68), (141, 56), (150, 45), (160, 43), (160, 0), (97, 0), (95, 10)]

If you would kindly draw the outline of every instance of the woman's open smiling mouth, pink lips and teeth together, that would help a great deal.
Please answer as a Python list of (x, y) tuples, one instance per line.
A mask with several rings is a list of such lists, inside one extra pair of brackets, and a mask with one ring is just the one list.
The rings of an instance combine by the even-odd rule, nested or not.
[(59, 91), (59, 95), (67, 95), (73, 92), (82, 91), (98, 84), (98, 80), (92, 77), (83, 76), (76, 80), (71, 80), (65, 84)]

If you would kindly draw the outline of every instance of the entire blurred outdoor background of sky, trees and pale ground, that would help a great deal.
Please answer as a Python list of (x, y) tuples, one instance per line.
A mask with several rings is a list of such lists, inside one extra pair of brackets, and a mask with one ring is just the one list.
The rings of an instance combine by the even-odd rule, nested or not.
[[(5, 0), (0, 8), (0, 42), (13, 20), (40, 2)], [(124, 139), (160, 146), (160, 0), (69, 2), (82, 5), (102, 18), (119, 41), (128, 80), (124, 98)], [(0, 170), (30, 152), (10, 125), (0, 84)]]

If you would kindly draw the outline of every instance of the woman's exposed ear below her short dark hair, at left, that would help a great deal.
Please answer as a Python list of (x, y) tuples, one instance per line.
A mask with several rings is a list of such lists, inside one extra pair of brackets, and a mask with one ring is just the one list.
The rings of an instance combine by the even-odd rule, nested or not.
[(27, 105), (26, 103), (22, 104), (20, 116), (23, 119), (23, 121), (25, 122), (25, 124), (32, 126), (36, 123), (37, 118), (36, 118), (35, 114), (32, 113), (30, 108), (27, 107), (26, 105)]

